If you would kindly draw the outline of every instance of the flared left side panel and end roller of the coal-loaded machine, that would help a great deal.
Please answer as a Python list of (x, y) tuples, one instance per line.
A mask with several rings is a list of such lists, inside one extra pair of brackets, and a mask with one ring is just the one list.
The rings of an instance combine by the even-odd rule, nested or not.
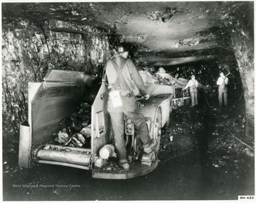
[[(58, 122), (72, 114), (93, 77), (83, 72), (51, 70), (44, 82), (28, 83), (28, 121), (20, 126), (18, 165), (30, 168), (33, 163), (67, 165), (90, 168), (90, 150), (77, 148), (70, 151), (55, 146), (44, 149)], [(72, 154), (72, 155), (70, 155)], [(86, 164), (76, 160), (86, 160)]]

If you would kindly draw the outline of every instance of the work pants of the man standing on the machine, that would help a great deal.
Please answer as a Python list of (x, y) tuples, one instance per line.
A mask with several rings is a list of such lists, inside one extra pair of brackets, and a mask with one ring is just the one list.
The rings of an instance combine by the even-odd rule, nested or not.
[[(127, 116), (127, 119), (130, 119), (134, 124), (135, 134), (139, 136), (142, 144), (147, 145), (151, 141), (144, 115), (142, 114), (142, 110), (139, 109), (137, 101), (134, 98), (124, 97), (122, 97), (122, 101), (122, 111), (114, 111), (111, 107), (111, 111), (109, 110), (112, 128), (114, 131), (115, 147), (117, 149), (117, 155), (119, 156), (120, 163), (124, 163), (127, 160), (127, 150), (124, 142), (124, 114)], [(134, 111), (131, 111), (133, 109), (132, 106), (134, 106)]]

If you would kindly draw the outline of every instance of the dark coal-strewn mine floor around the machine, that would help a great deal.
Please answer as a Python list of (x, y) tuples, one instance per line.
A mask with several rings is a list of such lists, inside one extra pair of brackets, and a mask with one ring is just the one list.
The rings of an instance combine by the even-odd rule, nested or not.
[[(4, 141), (4, 200), (228, 200), (254, 195), (255, 163), (245, 134), (245, 105), (229, 97), (228, 109), (205, 97), (171, 113), (163, 129), (159, 164), (129, 180), (92, 178), (92, 172), (58, 165), (18, 167), (18, 142)], [(170, 139), (172, 136), (172, 140)], [(240, 141), (238, 141), (238, 139)]]

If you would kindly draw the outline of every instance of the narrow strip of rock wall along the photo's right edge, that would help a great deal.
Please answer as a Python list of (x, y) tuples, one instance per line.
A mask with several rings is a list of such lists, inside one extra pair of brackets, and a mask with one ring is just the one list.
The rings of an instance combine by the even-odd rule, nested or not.
[(221, 19), (230, 29), (235, 59), (242, 79), (247, 111), (247, 135), (254, 136), (255, 80), (254, 80), (254, 22), (253, 2), (234, 4), (223, 11)]

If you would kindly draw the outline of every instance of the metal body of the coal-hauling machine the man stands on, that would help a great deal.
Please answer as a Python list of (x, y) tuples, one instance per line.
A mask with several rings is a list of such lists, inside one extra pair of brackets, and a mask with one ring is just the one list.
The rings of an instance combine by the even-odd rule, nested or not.
[[(58, 131), (58, 122), (73, 112), (93, 78), (83, 72), (51, 70), (44, 82), (28, 85), (28, 122), (20, 126), (18, 165), (30, 168), (33, 163), (65, 165), (83, 170), (92, 170), (92, 177), (105, 179), (128, 179), (145, 175), (157, 165), (157, 157), (141, 155), (139, 138), (134, 131), (127, 131), (127, 148), (132, 167), (129, 171), (121, 168), (106, 170), (112, 159), (100, 158), (100, 150), (105, 146), (111, 150), (114, 143), (110, 115), (107, 112), (107, 100), (110, 89), (102, 84), (91, 109), (90, 148), (75, 148), (49, 144), (53, 131)], [(161, 127), (169, 124), (169, 111), (173, 88), (168, 85), (145, 82), (148, 100), (140, 100), (149, 135), (159, 141)], [(163, 88), (164, 87), (164, 88)], [(135, 91), (139, 95), (139, 91)], [(159, 97), (157, 97), (159, 95)], [(160, 95), (165, 95), (160, 97)], [(155, 97), (154, 97), (155, 96)], [(125, 121), (127, 126), (127, 121)], [(132, 126), (132, 124), (131, 124)], [(128, 141), (132, 139), (132, 142)], [(159, 150), (156, 146), (156, 154)], [(107, 150), (105, 150), (107, 151)], [(110, 153), (114, 155), (114, 152)]]

